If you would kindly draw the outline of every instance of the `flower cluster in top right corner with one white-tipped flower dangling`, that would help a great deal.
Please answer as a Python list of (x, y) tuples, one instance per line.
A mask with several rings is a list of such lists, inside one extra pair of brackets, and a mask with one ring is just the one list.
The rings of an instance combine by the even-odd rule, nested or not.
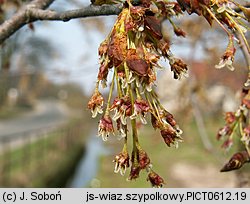
[[(216, 21), (219, 26), (225, 31), (228, 36), (228, 46), (222, 55), (220, 62), (215, 67), (221, 69), (227, 67), (233, 71), (233, 61), (236, 52), (235, 42), (244, 44), (250, 53), (250, 47), (248, 45), (245, 34), (248, 30), (246, 22), (250, 21), (250, 9), (246, 8), (233, 0), (177, 0), (183, 11), (187, 11), (189, 14), (196, 13), (199, 16), (204, 16), (210, 25), (213, 21)], [(237, 9), (241, 10), (243, 14), (237, 12)], [(241, 38), (237, 38), (238, 33)], [(245, 86), (250, 85), (250, 70), (249, 77), (245, 83)]]

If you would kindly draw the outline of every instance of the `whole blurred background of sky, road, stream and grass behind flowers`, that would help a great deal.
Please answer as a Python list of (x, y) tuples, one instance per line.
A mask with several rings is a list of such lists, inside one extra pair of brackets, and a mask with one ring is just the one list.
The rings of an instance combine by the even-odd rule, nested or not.
[[(0, 23), (23, 2), (6, 1)], [(88, 0), (61, 0), (51, 9), (86, 5)], [(98, 46), (115, 18), (36, 22), (0, 48), (0, 187), (150, 187), (146, 174), (128, 182), (129, 172), (124, 177), (113, 172), (122, 142), (97, 138), (98, 118), (92, 119), (86, 108), (99, 68)], [(219, 170), (238, 147), (224, 151), (216, 134), (223, 113), (239, 105), (247, 66), (238, 51), (234, 72), (216, 70), (226, 35), (196, 15), (183, 19), (175, 20), (187, 33), (185, 39), (175, 37), (168, 23), (163, 32), (172, 52), (189, 65), (189, 77), (174, 80), (162, 61), (166, 69), (158, 74), (157, 90), (183, 129), (184, 142), (168, 148), (148, 125), (138, 127), (141, 144), (167, 187), (237, 187), (239, 173)]]

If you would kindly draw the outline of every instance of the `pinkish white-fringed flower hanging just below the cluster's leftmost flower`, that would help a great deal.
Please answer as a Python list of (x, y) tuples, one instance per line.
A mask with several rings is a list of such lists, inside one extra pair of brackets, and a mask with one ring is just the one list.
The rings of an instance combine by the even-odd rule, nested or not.
[(105, 115), (99, 122), (98, 136), (102, 136), (103, 141), (107, 141), (110, 133), (114, 133), (112, 119), (110, 116)]

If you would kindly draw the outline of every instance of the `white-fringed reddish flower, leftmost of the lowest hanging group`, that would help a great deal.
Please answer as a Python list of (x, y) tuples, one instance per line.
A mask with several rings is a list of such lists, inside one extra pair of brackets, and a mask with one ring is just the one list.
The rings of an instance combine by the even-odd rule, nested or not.
[(120, 172), (120, 174), (123, 176), (129, 167), (129, 155), (127, 151), (123, 151), (115, 156), (114, 161), (115, 162), (115, 173)]

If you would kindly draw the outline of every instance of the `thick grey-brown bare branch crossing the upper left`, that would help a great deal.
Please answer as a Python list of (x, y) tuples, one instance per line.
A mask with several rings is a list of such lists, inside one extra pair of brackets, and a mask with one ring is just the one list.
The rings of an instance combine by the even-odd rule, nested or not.
[(49, 7), (55, 0), (34, 0), (21, 8), (9, 20), (0, 25), (0, 45), (17, 30), (28, 23), (38, 20), (58, 20), (69, 21), (74, 18), (83, 18), (102, 15), (117, 15), (121, 12), (120, 6), (102, 5), (87, 6), (82, 9), (76, 9), (65, 12), (56, 12), (52, 10), (44, 10)]

